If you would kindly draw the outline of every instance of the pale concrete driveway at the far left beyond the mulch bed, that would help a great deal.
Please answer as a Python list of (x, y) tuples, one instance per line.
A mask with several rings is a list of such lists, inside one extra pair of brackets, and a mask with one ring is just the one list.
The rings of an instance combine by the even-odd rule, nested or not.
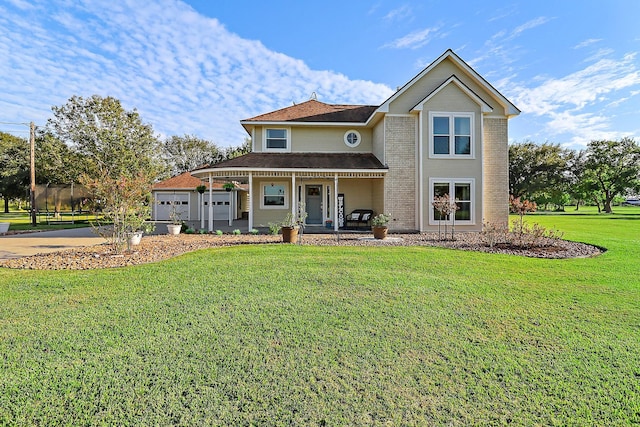
[(104, 242), (105, 239), (95, 234), (91, 227), (12, 234), (0, 236), (0, 259), (20, 258)]

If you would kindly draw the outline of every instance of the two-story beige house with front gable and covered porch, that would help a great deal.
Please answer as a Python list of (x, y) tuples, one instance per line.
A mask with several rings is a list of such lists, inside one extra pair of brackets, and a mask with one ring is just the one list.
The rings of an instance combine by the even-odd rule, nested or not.
[(452, 50), (382, 105), (309, 100), (242, 120), (252, 152), (192, 171), (248, 184), (249, 228), (304, 202), (307, 226), (390, 213), (391, 231), (438, 227), (434, 197), (455, 199), (456, 229), (508, 222), (508, 120), (520, 111)]

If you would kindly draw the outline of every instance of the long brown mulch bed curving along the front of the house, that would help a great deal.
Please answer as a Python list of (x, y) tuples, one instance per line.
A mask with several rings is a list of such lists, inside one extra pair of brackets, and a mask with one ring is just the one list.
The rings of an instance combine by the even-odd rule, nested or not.
[[(110, 245), (102, 244), (60, 252), (0, 260), (0, 267), (33, 270), (88, 270), (114, 268), (161, 261), (187, 252), (240, 244), (282, 244), (281, 236), (181, 234), (178, 236), (146, 236), (131, 252), (116, 254)], [(478, 233), (458, 233), (455, 240), (439, 240), (437, 233), (390, 234), (375, 240), (371, 234), (306, 234), (303, 245), (316, 246), (438, 246), (459, 250), (502, 253), (535, 258), (578, 258), (599, 255), (602, 249), (584, 243), (559, 240), (553, 246), (520, 248), (497, 244), (490, 248)]]

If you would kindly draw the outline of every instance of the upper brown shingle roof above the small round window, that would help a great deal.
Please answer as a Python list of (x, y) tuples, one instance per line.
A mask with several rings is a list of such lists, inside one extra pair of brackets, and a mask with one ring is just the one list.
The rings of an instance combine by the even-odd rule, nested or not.
[(243, 122), (342, 122), (364, 123), (378, 108), (375, 105), (325, 104), (314, 99), (261, 114)]

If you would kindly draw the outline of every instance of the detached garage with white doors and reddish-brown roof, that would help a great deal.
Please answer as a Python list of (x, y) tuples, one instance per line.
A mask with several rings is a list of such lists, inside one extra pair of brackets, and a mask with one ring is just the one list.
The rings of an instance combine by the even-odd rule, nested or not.
[[(215, 221), (233, 221), (243, 216), (246, 203), (246, 190), (239, 185), (231, 191), (223, 188), (224, 182), (214, 182), (213, 218)], [(200, 193), (196, 187), (204, 185), (205, 191)], [(189, 172), (158, 182), (153, 186), (154, 221), (169, 221), (172, 206), (177, 205), (182, 221), (194, 228), (208, 229), (209, 218), (209, 184), (192, 176)]]

